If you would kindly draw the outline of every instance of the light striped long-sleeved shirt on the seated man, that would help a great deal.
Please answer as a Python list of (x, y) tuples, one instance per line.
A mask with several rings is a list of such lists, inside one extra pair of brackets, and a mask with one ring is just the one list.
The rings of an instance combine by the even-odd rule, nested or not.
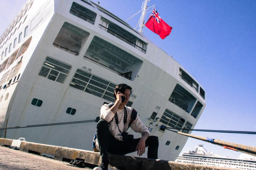
[[(131, 107), (127, 107), (125, 106), (126, 110), (127, 110), (127, 123), (124, 126), (124, 115), (125, 115), (125, 109), (117, 109), (116, 113), (117, 113), (117, 117), (118, 117), (118, 127), (120, 129), (121, 132), (126, 132), (130, 119), (131, 119), (131, 113), (132, 113), (132, 108)], [(103, 105), (100, 109), (100, 119), (104, 119), (107, 122), (110, 122), (112, 120), (112, 118), (114, 118), (115, 114), (110, 110), (108, 105)], [(122, 136), (121, 133), (119, 132), (117, 127), (117, 124), (115, 122), (115, 118), (113, 119), (113, 121), (110, 122), (109, 124), (109, 131), (111, 133), (112, 136), (114, 136), (117, 140), (121, 140), (122, 141)], [(132, 122), (130, 128), (134, 131), (134, 132), (138, 132), (143, 134), (144, 132), (147, 132), (149, 135), (149, 130), (148, 128), (143, 124), (143, 122), (140, 120), (139, 115), (137, 114), (136, 119)], [(98, 142), (96, 142), (96, 148), (98, 149)]]

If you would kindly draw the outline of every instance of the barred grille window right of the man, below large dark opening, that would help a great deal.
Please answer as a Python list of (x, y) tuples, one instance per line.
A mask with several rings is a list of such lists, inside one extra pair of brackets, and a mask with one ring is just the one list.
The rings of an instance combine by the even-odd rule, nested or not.
[[(179, 115), (173, 113), (172, 111), (166, 109), (160, 120), (163, 124), (166, 124), (172, 128), (181, 128), (185, 123), (185, 120)], [(179, 131), (179, 130), (178, 130)]]

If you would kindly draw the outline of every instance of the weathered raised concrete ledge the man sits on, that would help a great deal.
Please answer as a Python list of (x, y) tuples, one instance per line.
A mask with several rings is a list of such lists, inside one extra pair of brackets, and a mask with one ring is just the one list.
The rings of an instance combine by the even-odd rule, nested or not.
[[(5, 144), (11, 146), (11, 143), (16, 140), (3, 139), (0, 138), (0, 144)], [(14, 142), (17, 143), (17, 142)], [(84, 159), (85, 163), (91, 163), (99, 165), (101, 163), (99, 152), (72, 149), (65, 147), (58, 147), (52, 145), (44, 145), (32, 142), (22, 141), (20, 142), (20, 150), (22, 151), (35, 151), (40, 153), (45, 153), (53, 155), (60, 158), (68, 158), (75, 160), (76, 158)], [(146, 159), (139, 157), (130, 157), (122, 155), (109, 154), (110, 168), (120, 169), (120, 170), (229, 170), (230, 168), (220, 168), (215, 166), (205, 166), (190, 163), (177, 163), (164, 160)]]

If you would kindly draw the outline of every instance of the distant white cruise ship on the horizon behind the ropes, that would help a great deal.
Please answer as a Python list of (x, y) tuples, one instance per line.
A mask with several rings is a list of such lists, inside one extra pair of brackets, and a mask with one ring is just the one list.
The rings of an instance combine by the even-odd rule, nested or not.
[(185, 151), (175, 162), (194, 163), (207, 166), (217, 166), (224, 168), (256, 170), (256, 157), (245, 153), (239, 158), (230, 158), (214, 154), (207, 151), (203, 145), (198, 145), (195, 150)]

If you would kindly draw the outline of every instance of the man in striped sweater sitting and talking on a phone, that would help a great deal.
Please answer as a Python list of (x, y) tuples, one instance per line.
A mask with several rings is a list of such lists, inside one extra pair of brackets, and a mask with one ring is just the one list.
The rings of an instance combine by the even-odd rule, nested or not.
[[(158, 137), (149, 136), (148, 128), (142, 123), (138, 115), (134, 121), (131, 120), (134, 111), (131, 107), (126, 106), (131, 95), (131, 89), (126, 84), (117, 85), (114, 91), (115, 103), (103, 105), (100, 109), (95, 142), (96, 148), (100, 151), (101, 164), (94, 170), (108, 169), (108, 152), (125, 155), (137, 150), (137, 155), (141, 156), (145, 153), (145, 147), (148, 147), (147, 158), (157, 159), (158, 157)], [(124, 97), (122, 96), (125, 97), (123, 103), (122, 98)], [(132, 123), (130, 124), (130, 122)], [(127, 136), (126, 133), (129, 124), (133, 131), (142, 134), (141, 138), (133, 139), (132, 137), (129, 139), (130, 136)]]

